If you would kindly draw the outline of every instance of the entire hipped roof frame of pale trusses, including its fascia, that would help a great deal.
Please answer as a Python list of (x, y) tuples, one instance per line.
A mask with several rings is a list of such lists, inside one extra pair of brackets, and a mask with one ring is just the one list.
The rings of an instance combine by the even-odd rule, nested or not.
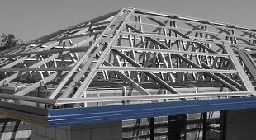
[(44, 126), (256, 107), (256, 31), (123, 8), (0, 52), (0, 114)]

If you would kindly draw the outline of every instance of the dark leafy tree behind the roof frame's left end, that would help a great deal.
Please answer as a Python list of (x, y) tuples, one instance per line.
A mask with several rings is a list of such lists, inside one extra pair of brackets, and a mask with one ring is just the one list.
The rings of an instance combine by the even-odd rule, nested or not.
[[(21, 42), (22, 43), (22, 42)], [(17, 46), (20, 44), (20, 39), (16, 39), (14, 35), (12, 34), (2, 34), (0, 36), (0, 52), (6, 49), (10, 49), (14, 46)], [(1, 63), (1, 60), (0, 60)], [(6, 77), (6, 74), (4, 72), (0, 72), (0, 81)]]

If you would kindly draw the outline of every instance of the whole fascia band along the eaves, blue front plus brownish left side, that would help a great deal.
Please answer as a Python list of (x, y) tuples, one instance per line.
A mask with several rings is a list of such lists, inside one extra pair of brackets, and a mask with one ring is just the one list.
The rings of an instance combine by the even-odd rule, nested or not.
[(164, 115), (240, 110), (256, 107), (256, 97), (217, 100), (185, 100), (175, 102), (111, 105), (66, 109), (41, 109), (0, 102), (0, 114), (46, 127), (93, 124), (124, 119), (140, 119)]

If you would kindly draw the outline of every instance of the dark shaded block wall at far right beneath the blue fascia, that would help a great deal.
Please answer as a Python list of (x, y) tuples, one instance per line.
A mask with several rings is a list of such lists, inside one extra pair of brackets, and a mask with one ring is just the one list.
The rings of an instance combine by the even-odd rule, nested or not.
[(256, 139), (256, 108), (230, 110), (226, 115), (226, 140)]

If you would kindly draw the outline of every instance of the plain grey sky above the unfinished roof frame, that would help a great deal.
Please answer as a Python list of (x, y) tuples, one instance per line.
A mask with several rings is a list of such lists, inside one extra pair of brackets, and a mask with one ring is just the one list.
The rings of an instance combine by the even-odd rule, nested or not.
[(0, 35), (26, 42), (122, 7), (256, 29), (255, 6), (256, 0), (0, 0)]

